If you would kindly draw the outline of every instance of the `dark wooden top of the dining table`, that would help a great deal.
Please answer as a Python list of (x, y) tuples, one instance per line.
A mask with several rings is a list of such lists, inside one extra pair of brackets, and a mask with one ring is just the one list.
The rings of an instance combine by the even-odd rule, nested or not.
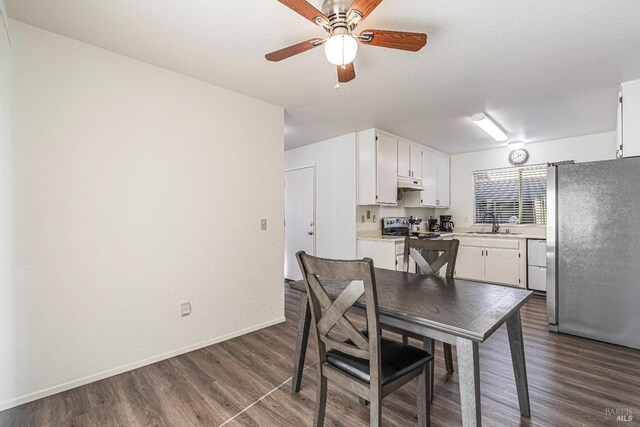
[[(375, 269), (381, 316), (483, 342), (533, 295), (533, 292), (423, 274)], [(347, 285), (323, 281), (333, 299)], [(305, 292), (303, 281), (289, 283)], [(363, 308), (364, 298), (356, 303)]]

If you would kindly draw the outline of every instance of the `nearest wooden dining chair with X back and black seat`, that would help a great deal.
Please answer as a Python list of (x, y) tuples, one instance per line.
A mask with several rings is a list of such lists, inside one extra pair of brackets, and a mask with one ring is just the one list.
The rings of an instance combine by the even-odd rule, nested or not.
[[(323, 259), (303, 251), (296, 257), (316, 330), (318, 389), (314, 426), (324, 424), (327, 380), (367, 400), (370, 425), (380, 426), (382, 399), (413, 379), (417, 385), (418, 425), (429, 426), (429, 362), (433, 356), (422, 349), (380, 336), (373, 261), (369, 258), (354, 261)], [(332, 283), (345, 285), (333, 301), (325, 290), (325, 286)], [(346, 317), (358, 301), (365, 303), (364, 331)], [(338, 330), (348, 339), (336, 337)]]

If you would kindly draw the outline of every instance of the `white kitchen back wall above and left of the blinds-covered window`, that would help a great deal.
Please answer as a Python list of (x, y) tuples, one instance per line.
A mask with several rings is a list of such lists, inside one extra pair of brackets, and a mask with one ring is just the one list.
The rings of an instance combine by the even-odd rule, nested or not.
[[(615, 132), (579, 136), (527, 144), (529, 160), (535, 165), (562, 160), (589, 162), (615, 158)], [(505, 147), (451, 156), (451, 208), (438, 215), (453, 216), (457, 227), (473, 223), (473, 172), (483, 169), (510, 167), (509, 150)], [(466, 220), (466, 221), (465, 221)]]

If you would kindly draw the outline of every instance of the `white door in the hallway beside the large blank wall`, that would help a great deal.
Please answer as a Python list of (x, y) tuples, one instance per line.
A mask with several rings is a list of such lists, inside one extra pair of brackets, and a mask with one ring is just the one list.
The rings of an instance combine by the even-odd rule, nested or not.
[(296, 252), (315, 255), (315, 168), (284, 173), (284, 277), (302, 279)]

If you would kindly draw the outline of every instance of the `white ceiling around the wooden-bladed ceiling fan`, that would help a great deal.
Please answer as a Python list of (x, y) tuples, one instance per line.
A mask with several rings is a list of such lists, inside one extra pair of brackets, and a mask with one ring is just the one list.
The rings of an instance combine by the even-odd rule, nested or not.
[[(320, 8), (320, 0), (311, 0)], [(7, 0), (26, 23), (285, 107), (285, 146), (379, 127), (448, 153), (615, 129), (622, 81), (640, 78), (637, 0), (386, 0), (360, 26), (426, 32), (418, 53), (361, 46), (334, 89), (315, 49), (264, 54), (323, 31), (276, 0)]]

